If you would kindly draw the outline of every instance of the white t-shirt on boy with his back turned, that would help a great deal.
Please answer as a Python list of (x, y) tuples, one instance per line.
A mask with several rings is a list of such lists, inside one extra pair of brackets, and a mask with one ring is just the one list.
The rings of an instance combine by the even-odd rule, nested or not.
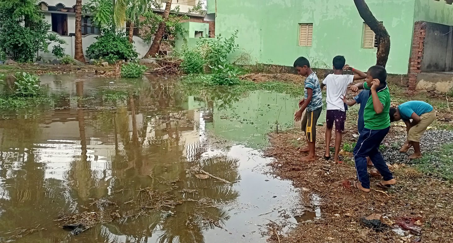
[(343, 96), (346, 94), (347, 86), (354, 81), (354, 75), (329, 74), (323, 80), (327, 86), (327, 109), (340, 110), (344, 112)]

